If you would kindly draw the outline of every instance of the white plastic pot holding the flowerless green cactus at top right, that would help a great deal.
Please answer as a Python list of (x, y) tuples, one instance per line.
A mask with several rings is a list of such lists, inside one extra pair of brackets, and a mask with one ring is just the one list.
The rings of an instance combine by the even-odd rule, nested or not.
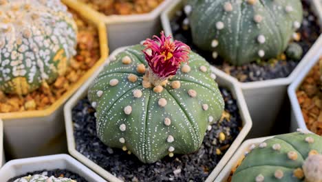
[[(178, 10), (181, 10), (184, 6), (184, 1), (173, 0), (171, 6), (162, 13), (162, 26), (166, 35), (171, 35), (170, 20), (175, 16)], [(319, 0), (311, 1), (312, 11), (319, 18), (319, 23), (322, 28), (322, 8)], [(296, 78), (297, 74), (305, 68), (310, 59), (314, 57), (322, 47), (322, 36), (316, 40), (312, 48), (305, 54), (303, 59), (300, 61), (297, 68), (286, 78), (272, 79), (266, 81), (253, 81), (248, 83), (241, 83), (235, 77), (224, 73), (222, 70), (213, 67), (213, 72), (215, 74), (224, 73), (223, 77), (228, 81), (236, 81), (242, 92), (248, 109), (250, 111), (250, 116), (253, 120), (253, 130), (250, 131), (248, 137), (255, 138), (259, 136), (268, 136), (275, 125), (277, 115), (281, 110), (281, 106), (284, 100), (287, 98), (287, 87)]]

